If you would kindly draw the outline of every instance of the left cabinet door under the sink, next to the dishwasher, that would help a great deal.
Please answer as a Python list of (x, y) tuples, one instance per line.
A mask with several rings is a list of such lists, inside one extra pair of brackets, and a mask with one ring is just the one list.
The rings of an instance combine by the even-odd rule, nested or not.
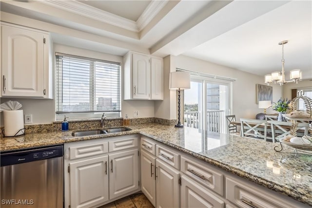
[(108, 200), (108, 156), (71, 162), (70, 205), (90, 208)]

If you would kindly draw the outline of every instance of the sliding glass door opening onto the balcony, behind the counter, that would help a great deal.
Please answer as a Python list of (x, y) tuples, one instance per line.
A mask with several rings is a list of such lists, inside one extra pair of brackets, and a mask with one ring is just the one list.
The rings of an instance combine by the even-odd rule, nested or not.
[(184, 90), (184, 125), (207, 132), (227, 132), (232, 82), (191, 76)]

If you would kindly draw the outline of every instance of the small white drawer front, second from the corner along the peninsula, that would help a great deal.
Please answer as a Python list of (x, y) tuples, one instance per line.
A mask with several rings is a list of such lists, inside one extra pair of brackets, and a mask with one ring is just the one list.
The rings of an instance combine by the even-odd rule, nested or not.
[(180, 170), (180, 154), (175, 151), (156, 145), (156, 157)]

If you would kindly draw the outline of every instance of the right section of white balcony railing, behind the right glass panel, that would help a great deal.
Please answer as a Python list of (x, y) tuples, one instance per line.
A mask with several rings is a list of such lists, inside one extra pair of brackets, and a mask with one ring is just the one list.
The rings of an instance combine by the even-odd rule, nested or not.
[(207, 131), (209, 132), (226, 132), (226, 121), (224, 110), (207, 111)]

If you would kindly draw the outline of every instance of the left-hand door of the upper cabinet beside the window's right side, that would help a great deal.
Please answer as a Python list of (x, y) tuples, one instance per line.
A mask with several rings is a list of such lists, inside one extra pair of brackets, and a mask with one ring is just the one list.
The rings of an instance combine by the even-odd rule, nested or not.
[(132, 87), (134, 99), (149, 99), (151, 92), (150, 57), (132, 54)]

